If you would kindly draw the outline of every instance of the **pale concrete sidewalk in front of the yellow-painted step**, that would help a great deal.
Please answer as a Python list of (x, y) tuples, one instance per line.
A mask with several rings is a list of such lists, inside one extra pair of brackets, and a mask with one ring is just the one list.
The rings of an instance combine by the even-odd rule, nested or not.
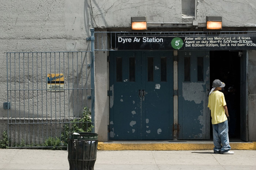
[[(256, 150), (97, 151), (94, 170), (256, 170)], [(69, 170), (68, 152), (0, 149), (1, 170)]]

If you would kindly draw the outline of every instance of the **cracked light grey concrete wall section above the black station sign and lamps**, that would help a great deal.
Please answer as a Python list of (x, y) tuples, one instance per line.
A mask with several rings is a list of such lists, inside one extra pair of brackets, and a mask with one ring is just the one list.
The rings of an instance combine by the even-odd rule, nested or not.
[[(95, 0), (91, 3), (93, 20), (97, 27), (130, 27), (131, 16), (147, 16), (147, 22), (150, 23), (184, 22), (181, 0)], [(197, 21), (206, 22), (206, 16), (222, 16), (223, 27), (255, 27), (255, 4), (256, 0), (199, 0)], [(205, 27), (205, 24), (201, 26)]]

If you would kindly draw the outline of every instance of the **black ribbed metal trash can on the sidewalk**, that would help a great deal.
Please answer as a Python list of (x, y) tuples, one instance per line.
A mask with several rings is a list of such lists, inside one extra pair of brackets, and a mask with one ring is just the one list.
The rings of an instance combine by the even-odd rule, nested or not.
[(94, 170), (98, 134), (89, 132), (68, 133), (69, 170)]

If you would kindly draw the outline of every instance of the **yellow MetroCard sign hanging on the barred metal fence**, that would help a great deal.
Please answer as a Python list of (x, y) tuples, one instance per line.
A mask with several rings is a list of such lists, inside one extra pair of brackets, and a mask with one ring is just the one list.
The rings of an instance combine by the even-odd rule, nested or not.
[(64, 91), (64, 74), (62, 73), (47, 74), (47, 90)]

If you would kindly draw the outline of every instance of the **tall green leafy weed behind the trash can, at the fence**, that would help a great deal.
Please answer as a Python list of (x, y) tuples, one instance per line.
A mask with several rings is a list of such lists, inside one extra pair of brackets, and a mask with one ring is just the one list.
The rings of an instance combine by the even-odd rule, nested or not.
[(71, 123), (64, 125), (64, 133), (61, 139), (67, 145), (69, 132), (91, 132), (94, 126), (91, 122), (91, 112), (88, 107), (83, 108), (83, 114), (79, 118), (75, 118)]

